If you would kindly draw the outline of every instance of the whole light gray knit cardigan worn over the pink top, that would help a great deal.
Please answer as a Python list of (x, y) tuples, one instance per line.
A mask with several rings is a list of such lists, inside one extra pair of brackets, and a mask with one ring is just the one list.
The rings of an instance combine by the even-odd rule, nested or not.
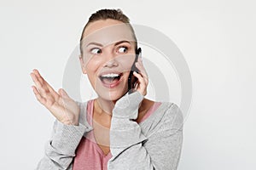
[[(135, 92), (119, 99), (110, 127), (108, 170), (176, 170), (183, 143), (183, 115), (178, 106), (162, 102), (146, 120), (131, 121), (143, 95)], [(57, 120), (45, 144), (45, 155), (38, 170), (72, 170), (75, 150), (83, 135), (93, 129), (86, 120), (87, 102), (80, 103), (79, 126), (65, 125)]]

